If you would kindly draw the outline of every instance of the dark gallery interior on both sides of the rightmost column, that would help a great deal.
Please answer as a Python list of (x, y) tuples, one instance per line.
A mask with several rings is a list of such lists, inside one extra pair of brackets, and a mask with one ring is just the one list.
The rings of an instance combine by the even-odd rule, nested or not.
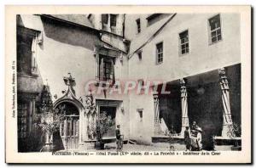
[[(241, 125), (241, 64), (226, 67), (230, 87), (230, 108), (232, 120)], [(218, 76), (218, 71), (213, 71)], [(212, 77), (214, 78), (214, 77)], [(201, 80), (204, 83), (204, 79)], [(201, 91), (203, 88), (203, 92)], [(198, 87), (188, 88), (189, 124), (193, 120), (201, 126), (203, 148), (212, 149), (212, 136), (220, 136), (223, 129), (222, 91), (218, 79)]]

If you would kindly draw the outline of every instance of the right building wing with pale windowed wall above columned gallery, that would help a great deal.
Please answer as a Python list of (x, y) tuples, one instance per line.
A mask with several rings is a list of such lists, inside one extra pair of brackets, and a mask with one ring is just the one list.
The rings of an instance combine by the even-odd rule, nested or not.
[(229, 138), (227, 127), (241, 125), (240, 15), (138, 14), (125, 19), (125, 36), (131, 40), (129, 77), (160, 80), (158, 91), (166, 84), (171, 92), (130, 95), (130, 117), (139, 118), (143, 109), (143, 121), (131, 120), (130, 137), (149, 143), (166, 130), (179, 137), (195, 120), (203, 137)]

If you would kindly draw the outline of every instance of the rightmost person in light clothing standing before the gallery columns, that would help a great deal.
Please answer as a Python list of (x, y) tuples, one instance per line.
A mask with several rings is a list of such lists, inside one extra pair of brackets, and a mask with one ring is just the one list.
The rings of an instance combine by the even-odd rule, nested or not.
[(202, 148), (201, 132), (202, 132), (201, 127), (197, 125), (196, 121), (193, 121), (193, 125), (191, 126), (191, 130), (190, 130), (192, 151), (200, 151)]

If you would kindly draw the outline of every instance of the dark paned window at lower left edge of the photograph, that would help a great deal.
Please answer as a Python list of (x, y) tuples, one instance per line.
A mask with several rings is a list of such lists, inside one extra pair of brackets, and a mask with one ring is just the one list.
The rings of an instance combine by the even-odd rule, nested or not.
[(18, 104), (18, 137), (26, 138), (27, 137), (27, 112), (28, 104), (19, 103)]

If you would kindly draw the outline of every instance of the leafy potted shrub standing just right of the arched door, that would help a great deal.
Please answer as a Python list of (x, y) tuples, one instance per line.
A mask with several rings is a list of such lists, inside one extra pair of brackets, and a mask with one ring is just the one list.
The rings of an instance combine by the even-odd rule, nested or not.
[(104, 142), (102, 136), (108, 132), (109, 128), (114, 125), (114, 121), (107, 112), (103, 111), (96, 121), (96, 143), (95, 148), (97, 150), (104, 149)]

